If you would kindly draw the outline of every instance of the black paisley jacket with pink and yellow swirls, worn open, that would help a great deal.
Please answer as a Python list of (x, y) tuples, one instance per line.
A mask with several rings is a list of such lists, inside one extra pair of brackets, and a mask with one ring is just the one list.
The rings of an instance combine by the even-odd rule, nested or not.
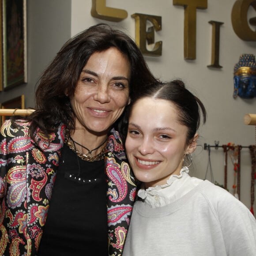
[[(64, 125), (50, 142), (38, 130), (36, 146), (29, 123), (4, 122), (0, 134), (0, 255), (36, 255), (65, 135)], [(109, 256), (122, 254), (136, 185), (118, 132), (111, 130), (105, 156)]]

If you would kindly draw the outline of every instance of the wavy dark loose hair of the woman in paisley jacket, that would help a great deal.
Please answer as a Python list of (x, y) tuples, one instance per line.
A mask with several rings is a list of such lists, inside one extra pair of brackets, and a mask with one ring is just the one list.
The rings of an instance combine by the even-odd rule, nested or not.
[(75, 127), (69, 97), (74, 95), (80, 73), (90, 56), (110, 47), (119, 49), (130, 61), (131, 102), (147, 84), (156, 81), (132, 38), (106, 24), (91, 26), (68, 40), (41, 75), (35, 93), (36, 111), (28, 117), (33, 139), (38, 127), (47, 136), (61, 123), (68, 129)]

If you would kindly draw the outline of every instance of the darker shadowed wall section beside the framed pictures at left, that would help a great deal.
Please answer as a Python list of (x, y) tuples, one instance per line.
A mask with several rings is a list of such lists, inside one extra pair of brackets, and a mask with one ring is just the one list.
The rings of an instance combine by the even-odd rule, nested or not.
[(34, 87), (60, 47), (71, 37), (71, 0), (27, 0), (28, 83), (0, 92), (0, 103), (25, 95), (34, 107)]

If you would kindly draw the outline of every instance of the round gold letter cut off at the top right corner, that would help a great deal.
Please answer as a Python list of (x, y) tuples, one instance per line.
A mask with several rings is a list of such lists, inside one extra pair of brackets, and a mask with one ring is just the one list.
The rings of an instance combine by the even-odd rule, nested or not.
[(233, 30), (244, 41), (256, 41), (256, 32), (250, 28), (247, 20), (250, 5), (256, 10), (256, 0), (237, 0), (232, 9), (231, 19)]

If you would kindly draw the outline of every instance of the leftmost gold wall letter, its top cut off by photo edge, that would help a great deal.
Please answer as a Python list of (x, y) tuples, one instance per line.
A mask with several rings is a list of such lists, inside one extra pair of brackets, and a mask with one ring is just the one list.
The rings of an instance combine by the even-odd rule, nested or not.
[(92, 0), (90, 14), (94, 18), (118, 22), (126, 19), (127, 11), (117, 8), (106, 7), (106, 0)]

